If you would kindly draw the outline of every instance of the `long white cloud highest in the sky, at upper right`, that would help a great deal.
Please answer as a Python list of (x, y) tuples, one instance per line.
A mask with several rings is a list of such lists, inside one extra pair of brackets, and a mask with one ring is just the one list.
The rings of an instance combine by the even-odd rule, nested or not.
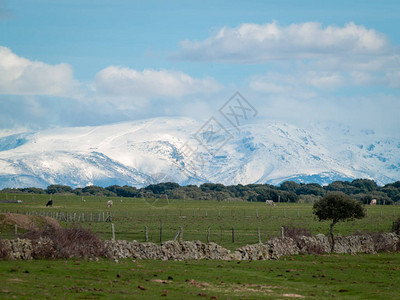
[(354, 23), (322, 27), (307, 22), (280, 26), (277, 22), (224, 27), (201, 41), (183, 41), (173, 58), (194, 61), (266, 63), (273, 60), (315, 59), (330, 55), (381, 55), (389, 50), (385, 35)]

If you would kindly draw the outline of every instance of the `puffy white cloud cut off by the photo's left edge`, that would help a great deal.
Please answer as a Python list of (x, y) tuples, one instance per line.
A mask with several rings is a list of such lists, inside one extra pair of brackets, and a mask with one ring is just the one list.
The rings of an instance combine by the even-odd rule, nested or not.
[(30, 61), (0, 47), (0, 94), (70, 96), (78, 86), (68, 64)]

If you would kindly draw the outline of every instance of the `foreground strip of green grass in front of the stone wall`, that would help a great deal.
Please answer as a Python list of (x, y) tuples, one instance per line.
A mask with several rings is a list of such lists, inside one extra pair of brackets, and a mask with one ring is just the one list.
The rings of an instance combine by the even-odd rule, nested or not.
[(400, 255), (279, 261), (0, 261), (1, 299), (395, 299)]

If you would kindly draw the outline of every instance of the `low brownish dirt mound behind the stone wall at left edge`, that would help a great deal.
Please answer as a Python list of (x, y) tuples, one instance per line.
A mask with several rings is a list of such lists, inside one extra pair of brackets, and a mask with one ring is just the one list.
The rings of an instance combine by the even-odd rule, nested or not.
[(15, 225), (15, 224), (17, 224), (18, 228), (25, 230), (29, 229), (37, 230), (39, 228), (43, 228), (46, 226), (61, 228), (60, 223), (56, 219), (50, 217), (27, 216), (22, 214), (13, 214), (13, 213), (0, 213), (0, 226)]

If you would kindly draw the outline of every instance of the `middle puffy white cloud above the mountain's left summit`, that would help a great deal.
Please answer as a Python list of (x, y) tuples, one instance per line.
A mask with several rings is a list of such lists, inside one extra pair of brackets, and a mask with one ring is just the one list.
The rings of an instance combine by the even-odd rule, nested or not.
[(99, 96), (151, 99), (179, 99), (185, 95), (214, 93), (221, 86), (211, 78), (197, 79), (178, 71), (137, 71), (110, 66), (97, 73), (95, 88)]

